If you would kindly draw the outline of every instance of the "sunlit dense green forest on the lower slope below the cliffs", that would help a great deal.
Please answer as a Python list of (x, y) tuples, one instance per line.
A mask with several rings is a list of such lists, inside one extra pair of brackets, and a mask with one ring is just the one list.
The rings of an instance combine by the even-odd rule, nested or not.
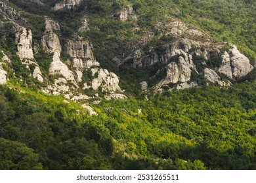
[(102, 101), (98, 116), (22, 90), (1, 87), (0, 137), (34, 158), (1, 148), (7, 169), (256, 169), (255, 82)]

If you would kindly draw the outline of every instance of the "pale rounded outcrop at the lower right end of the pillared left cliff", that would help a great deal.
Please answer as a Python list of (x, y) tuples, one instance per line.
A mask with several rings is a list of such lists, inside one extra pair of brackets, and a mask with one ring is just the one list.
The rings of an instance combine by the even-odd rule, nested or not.
[(86, 82), (83, 89), (93, 88), (93, 90), (99, 90), (100, 92), (120, 92), (119, 80), (117, 75), (108, 72), (106, 69), (91, 69), (92, 75), (95, 78), (91, 82)]

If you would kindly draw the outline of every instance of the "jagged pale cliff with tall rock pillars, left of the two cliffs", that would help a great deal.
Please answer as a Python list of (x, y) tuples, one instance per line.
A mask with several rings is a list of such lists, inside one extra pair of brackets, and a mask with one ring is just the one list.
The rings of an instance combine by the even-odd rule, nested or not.
[[(28, 3), (45, 5), (45, 1), (28, 1)], [(62, 8), (72, 8), (78, 6), (81, 1), (59, 1), (54, 6), (54, 10)], [(14, 41), (16, 43), (16, 55), (20, 62), (28, 69), (30, 75), (37, 78), (39, 82), (44, 82), (47, 86), (42, 88), (44, 93), (53, 95), (65, 94), (69, 99), (91, 99), (83, 94), (83, 90), (92, 89), (95, 92), (105, 92), (105, 95), (113, 95), (113, 92), (121, 92), (119, 80), (114, 73), (100, 68), (100, 63), (96, 61), (93, 55), (93, 46), (87, 39), (74, 33), (70, 39), (66, 40), (64, 45), (60, 44), (61, 27), (58, 22), (47, 16), (45, 19), (44, 31), (41, 37), (41, 43), (33, 39), (33, 32), (28, 27), (24, 27), (19, 21), (20, 12), (8, 7), (5, 3), (0, 4), (1, 27), (7, 24), (15, 32)], [(78, 32), (87, 29), (86, 18), (81, 20), (82, 24)], [(27, 22), (26, 19), (23, 19)], [(8, 33), (7, 33), (8, 34)], [(50, 75), (53, 75), (54, 81), (50, 82), (49, 77), (43, 77), (41, 69), (34, 57), (38, 48), (52, 54), (53, 58), (49, 65)], [(35, 47), (36, 46), (36, 47)], [(61, 54), (68, 55), (67, 60), (62, 60)], [(6, 56), (7, 57), (7, 56)], [(10, 60), (12, 63), (12, 60)], [(12, 65), (12, 64), (10, 64)], [(86, 74), (85, 74), (86, 73)], [(1, 66), (0, 72), (1, 84), (6, 84), (7, 71)], [(86, 77), (85, 77), (86, 75)], [(44, 85), (45, 85), (44, 84)], [(79, 97), (77, 97), (79, 96)], [(121, 96), (121, 95), (120, 95)], [(122, 96), (123, 97), (123, 96)]]

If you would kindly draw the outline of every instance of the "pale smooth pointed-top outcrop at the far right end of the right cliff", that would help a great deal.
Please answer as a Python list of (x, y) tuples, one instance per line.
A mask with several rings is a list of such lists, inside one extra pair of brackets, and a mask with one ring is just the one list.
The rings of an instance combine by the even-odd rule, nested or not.
[(253, 70), (249, 59), (239, 52), (235, 45), (228, 52), (224, 52), (219, 72), (229, 78), (240, 78)]

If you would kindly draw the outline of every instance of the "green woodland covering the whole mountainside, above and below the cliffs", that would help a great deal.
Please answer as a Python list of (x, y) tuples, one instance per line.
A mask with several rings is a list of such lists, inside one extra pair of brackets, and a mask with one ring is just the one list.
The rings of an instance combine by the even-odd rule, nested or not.
[[(47, 2), (49, 6), (56, 3)], [(8, 1), (28, 19), (21, 24), (32, 29), (34, 43), (43, 33), (42, 15), (58, 20), (63, 52), (66, 39), (86, 12), (89, 31), (81, 36), (93, 42), (100, 65), (120, 76), (121, 88), (130, 96), (102, 100), (92, 105), (98, 115), (90, 116), (81, 103), (65, 103), (61, 95), (35, 92), (39, 84), (16, 56), (14, 33), (7, 24), (0, 31), (0, 49), (12, 60), (10, 67), (3, 64), (12, 89), (0, 86), (0, 169), (256, 169), (255, 70), (230, 88), (206, 86), (202, 75), (194, 72), (192, 80), (202, 87), (150, 94), (139, 92), (139, 82), (156, 84), (165, 76), (158, 72), (164, 63), (134, 68), (129, 61), (121, 66), (113, 61), (113, 56), (122, 56), (129, 43), (152, 29), (154, 22), (174, 16), (201, 27), (213, 41), (238, 44), (253, 62), (255, 2), (87, 0), (77, 10), (54, 14), (47, 7)], [(123, 5), (133, 7), (137, 21), (118, 20), (116, 14)], [(135, 35), (133, 29), (138, 26), (140, 32)], [(158, 42), (154, 49), (163, 54)], [(63, 52), (65, 60), (68, 56)], [(213, 56), (208, 67), (218, 67), (220, 55)], [(51, 57), (41, 48), (35, 53), (43, 75), (54, 82), (48, 76)], [(203, 70), (202, 59), (193, 58)], [(83, 81), (93, 78), (91, 71), (83, 72)], [(94, 94), (89, 89), (85, 92)]]

